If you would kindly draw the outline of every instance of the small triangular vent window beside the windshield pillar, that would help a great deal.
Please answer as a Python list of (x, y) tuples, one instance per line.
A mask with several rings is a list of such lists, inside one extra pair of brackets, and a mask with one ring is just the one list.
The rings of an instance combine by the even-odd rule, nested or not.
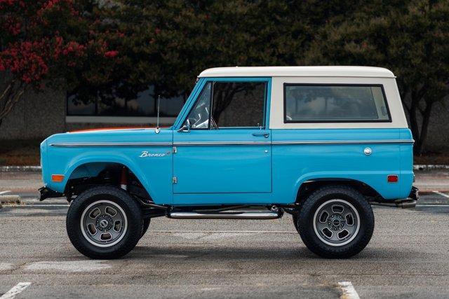
[(186, 118), (184, 125), (188, 125), (192, 129), (208, 129), (209, 128), (209, 115), (210, 115), (210, 95), (212, 92), (212, 83), (207, 83), (198, 99), (196, 104), (190, 111), (189, 116)]

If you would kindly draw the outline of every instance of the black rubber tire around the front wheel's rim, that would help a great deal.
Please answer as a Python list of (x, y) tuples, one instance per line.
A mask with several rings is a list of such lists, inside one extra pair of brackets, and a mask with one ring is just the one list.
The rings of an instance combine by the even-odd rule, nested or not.
[[(126, 216), (125, 225), (118, 229), (120, 231), (123, 228), (120, 237), (116, 239), (118, 241), (116, 244), (112, 244), (114, 243), (112, 242), (106, 245), (95, 245), (95, 241), (89, 240), (86, 230), (84, 230), (86, 235), (83, 235), (81, 216), (92, 204), (104, 200), (115, 204), (114, 207), (118, 207), (121, 209), (120, 211), (123, 211), (122, 214)], [(66, 221), (67, 235), (69, 235), (70, 242), (72, 242), (76, 250), (88, 258), (121, 258), (133, 250), (142, 236), (143, 221), (141, 213), (138, 203), (124, 190), (113, 186), (93, 187), (81, 193), (70, 205)], [(98, 219), (98, 216), (96, 219)], [(95, 235), (96, 233), (98, 231), (95, 232)]]

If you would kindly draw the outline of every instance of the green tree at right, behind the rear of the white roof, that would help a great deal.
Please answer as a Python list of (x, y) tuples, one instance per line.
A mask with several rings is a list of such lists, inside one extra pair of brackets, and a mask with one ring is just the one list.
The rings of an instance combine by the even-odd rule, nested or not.
[(365, 1), (346, 20), (331, 19), (307, 51), (307, 64), (373, 65), (397, 76), (403, 106), (424, 151), (431, 111), (447, 102), (449, 1)]

